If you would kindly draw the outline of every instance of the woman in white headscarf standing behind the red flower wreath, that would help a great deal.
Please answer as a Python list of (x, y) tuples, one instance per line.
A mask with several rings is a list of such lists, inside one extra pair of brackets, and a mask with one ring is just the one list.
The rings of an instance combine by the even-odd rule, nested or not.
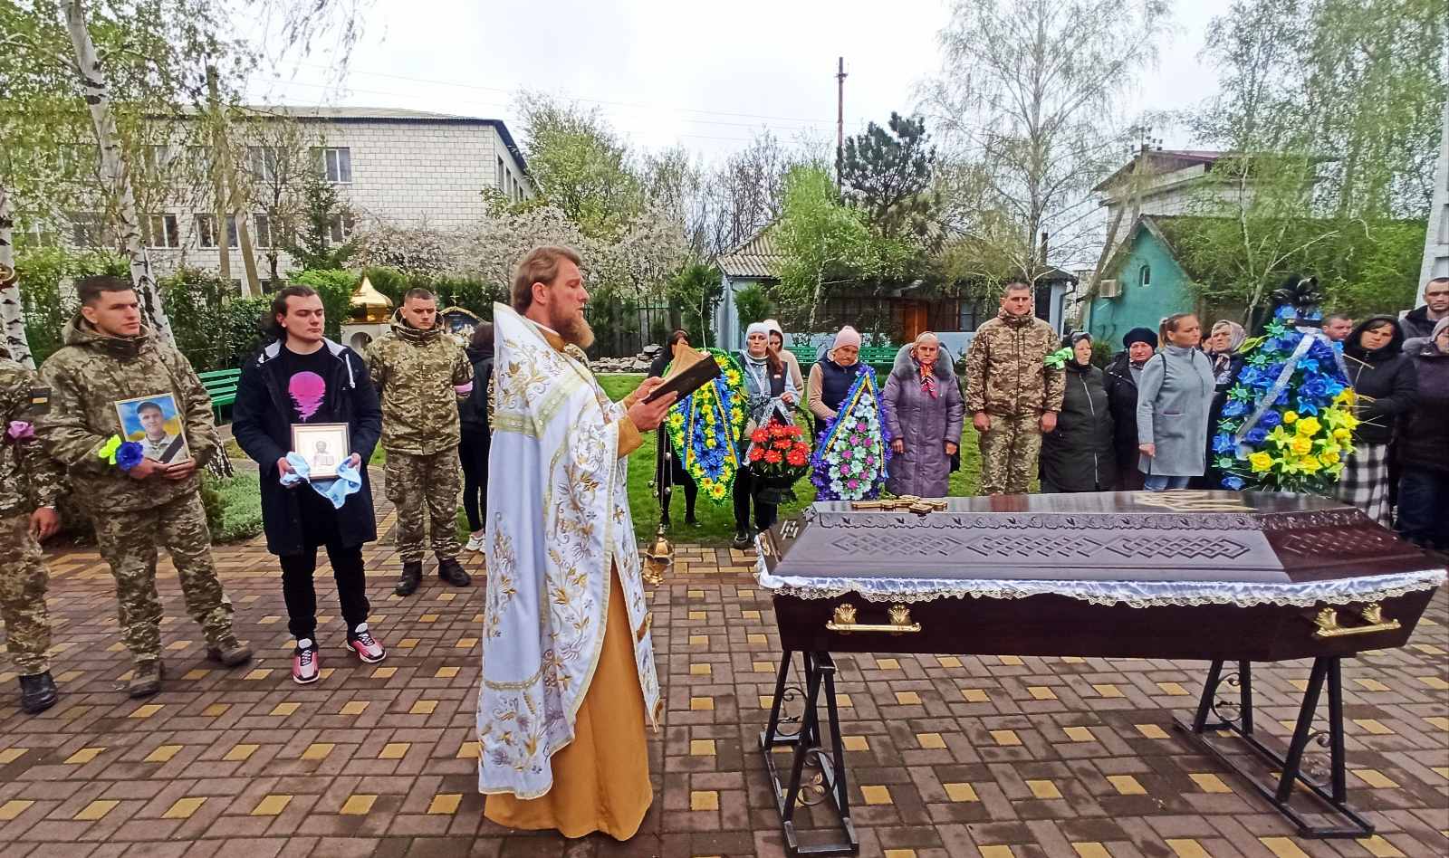
[[(745, 371), (745, 429), (739, 436), (739, 461), (749, 461), (749, 436), (771, 422), (791, 422), (790, 412), (800, 393), (790, 381), (784, 362), (769, 351), (769, 330), (764, 322), (745, 329), (745, 351), (739, 352)], [(761, 500), (749, 468), (735, 477), (735, 548), (749, 548), (753, 535), (775, 523), (777, 504)], [(749, 507), (755, 507), (755, 528), (749, 526)]]

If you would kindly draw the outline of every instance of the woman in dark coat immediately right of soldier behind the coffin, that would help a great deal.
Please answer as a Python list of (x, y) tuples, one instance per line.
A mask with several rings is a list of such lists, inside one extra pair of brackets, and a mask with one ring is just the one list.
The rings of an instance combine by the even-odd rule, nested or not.
[(1042, 491), (1111, 491), (1117, 481), (1116, 423), (1103, 371), (1091, 365), (1091, 335), (1080, 330), (1064, 338), (1064, 345), (1071, 346), (1072, 359), (1066, 361), (1056, 429), (1042, 436)]

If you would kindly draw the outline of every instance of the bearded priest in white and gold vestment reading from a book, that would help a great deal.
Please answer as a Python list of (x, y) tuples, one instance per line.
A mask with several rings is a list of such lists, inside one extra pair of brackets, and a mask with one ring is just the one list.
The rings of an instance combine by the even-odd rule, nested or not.
[(658, 378), (604, 394), (578, 267), (538, 248), (493, 307), (478, 790), (498, 825), (623, 841), (653, 797), (645, 725), (662, 709), (627, 457), (674, 394), (645, 403)]

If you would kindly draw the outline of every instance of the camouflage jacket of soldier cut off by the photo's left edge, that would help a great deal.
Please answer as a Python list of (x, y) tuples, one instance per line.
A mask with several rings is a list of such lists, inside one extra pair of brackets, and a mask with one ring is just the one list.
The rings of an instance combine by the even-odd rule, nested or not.
[[(0, 517), (55, 506), (61, 468), (35, 442), (33, 425), (49, 404), (49, 391), (35, 372), (0, 349)], [(26, 432), (26, 426), (32, 426)], [(20, 435), (20, 438), (16, 438)]]

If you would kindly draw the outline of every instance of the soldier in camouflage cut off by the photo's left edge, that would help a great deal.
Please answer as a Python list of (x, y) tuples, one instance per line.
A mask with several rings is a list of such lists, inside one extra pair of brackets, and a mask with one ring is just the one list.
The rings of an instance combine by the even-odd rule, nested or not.
[(33, 422), (49, 403), (35, 372), (0, 346), (0, 619), (6, 649), (20, 674), (20, 709), (35, 715), (55, 706), (55, 680), (46, 649), (48, 575), (41, 541), (61, 526), (55, 500), (61, 470), (35, 443)]

